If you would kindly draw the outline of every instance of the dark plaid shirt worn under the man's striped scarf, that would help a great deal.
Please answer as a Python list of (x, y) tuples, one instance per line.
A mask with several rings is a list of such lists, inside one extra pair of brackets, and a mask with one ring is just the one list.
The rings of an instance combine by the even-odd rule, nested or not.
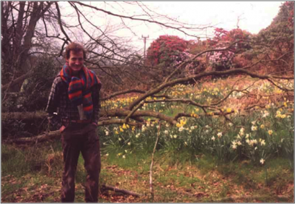
[[(71, 120), (80, 120), (77, 106), (71, 104), (69, 101), (68, 88), (69, 85), (67, 85), (59, 75), (53, 80), (46, 112), (48, 113), (47, 118), (49, 119), (49, 123), (57, 129), (62, 125), (68, 125), (64, 120), (69, 121), (69, 123), (71, 123)], [(91, 87), (93, 103), (91, 121), (96, 124), (99, 121), (99, 109), (101, 108), (99, 91), (99, 85)]]

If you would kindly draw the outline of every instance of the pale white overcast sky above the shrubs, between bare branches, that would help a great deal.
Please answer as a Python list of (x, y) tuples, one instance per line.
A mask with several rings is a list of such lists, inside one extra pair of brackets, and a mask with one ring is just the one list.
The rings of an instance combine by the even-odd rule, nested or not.
[[(61, 2), (61, 1), (60, 1)], [(237, 25), (242, 30), (256, 34), (262, 28), (267, 28), (278, 14), (280, 5), (285, 1), (142, 1), (152, 11), (158, 12), (161, 15), (167, 15), (180, 22), (194, 24), (198, 26), (211, 25), (218, 28), (224, 28), (228, 31), (237, 28)], [(128, 4), (124, 2), (113, 1), (92, 1), (89, 3), (93, 6), (99, 6), (110, 12), (123, 15), (140, 15), (143, 10), (136, 2)], [(92, 10), (86, 11), (92, 16), (95, 24), (101, 26), (121, 24), (122, 21), (118, 17), (112, 17), (105, 13)], [(239, 23), (237, 24), (239, 19)], [(149, 47), (153, 40), (160, 35), (178, 35), (185, 40), (191, 40), (192, 37), (173, 31), (171, 29), (161, 28), (155, 24), (145, 24), (142, 22), (124, 20), (124, 24), (131, 29), (123, 29), (112, 33), (111, 35), (119, 37), (128, 37), (131, 39), (131, 44), (138, 49), (143, 49), (144, 42), (142, 35), (149, 35), (146, 48)], [(193, 35), (198, 35), (204, 40), (205, 37), (213, 37), (214, 28), (208, 28), (203, 31), (190, 32)], [(95, 32), (95, 31), (94, 31)], [(195, 38), (194, 38), (195, 39)]]

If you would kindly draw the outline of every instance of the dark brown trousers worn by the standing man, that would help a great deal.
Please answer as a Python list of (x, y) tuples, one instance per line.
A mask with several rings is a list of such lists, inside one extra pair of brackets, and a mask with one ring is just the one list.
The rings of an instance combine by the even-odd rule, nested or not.
[(87, 171), (85, 202), (98, 202), (101, 153), (96, 126), (94, 124), (71, 124), (62, 132), (62, 153), (65, 164), (62, 174), (62, 203), (74, 203), (75, 174), (80, 152)]

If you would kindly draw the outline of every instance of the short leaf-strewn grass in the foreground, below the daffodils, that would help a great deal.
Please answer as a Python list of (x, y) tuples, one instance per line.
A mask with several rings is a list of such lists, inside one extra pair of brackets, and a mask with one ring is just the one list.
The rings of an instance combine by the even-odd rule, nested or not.
[[(60, 142), (42, 146), (13, 146), (1, 144), (1, 202), (59, 203), (62, 175), (61, 157), (47, 166), (49, 155), (58, 155)], [(294, 202), (294, 171), (287, 159), (273, 158), (264, 166), (251, 162), (220, 163), (210, 154), (178, 158), (158, 151), (153, 167), (155, 197), (149, 196), (149, 167), (151, 154), (129, 153), (126, 159), (117, 152), (103, 155), (101, 184), (128, 189), (140, 198), (114, 192), (100, 194), (102, 203), (220, 203), (220, 202)], [(10, 155), (9, 159), (7, 155)], [(163, 160), (163, 157), (165, 159)], [(14, 164), (10, 162), (14, 161)], [(26, 162), (24, 162), (24, 160)], [(57, 161), (59, 160), (59, 161)], [(35, 165), (40, 165), (35, 168)], [(32, 166), (33, 165), (33, 166)], [(10, 169), (12, 168), (12, 169)], [(266, 182), (265, 169), (268, 173)], [(84, 203), (85, 180), (83, 158), (78, 160), (75, 203)]]

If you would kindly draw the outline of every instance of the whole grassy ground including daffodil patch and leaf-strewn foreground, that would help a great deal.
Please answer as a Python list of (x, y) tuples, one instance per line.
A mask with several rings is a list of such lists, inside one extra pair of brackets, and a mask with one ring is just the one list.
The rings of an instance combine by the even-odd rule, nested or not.
[[(226, 96), (228, 85), (221, 84), (204, 84), (199, 90), (181, 85), (167, 94), (186, 99), (194, 97), (198, 103), (210, 104)], [(264, 95), (265, 90), (258, 88), (258, 93)], [(228, 108), (239, 110), (242, 104), (251, 102), (246, 98), (233, 94), (220, 108), (225, 112)], [(281, 98), (283, 100), (283, 95)], [(265, 108), (254, 108), (251, 112), (242, 108), (241, 112), (228, 116), (233, 124), (224, 117), (205, 115), (192, 105), (144, 105), (143, 110), (162, 111), (171, 117), (184, 110), (191, 116), (198, 114), (179, 119), (178, 126), (162, 124), (153, 166), (154, 198), (149, 193), (149, 169), (159, 122), (145, 118), (146, 124), (139, 129), (115, 125), (99, 128), (101, 184), (143, 195), (135, 198), (101, 192), (100, 202), (294, 202), (294, 102), (263, 100)], [(114, 108), (114, 104), (124, 107), (128, 103), (129, 98), (106, 101), (108, 108)], [(273, 133), (269, 134), (269, 130)], [(233, 144), (238, 145), (234, 148)], [(33, 146), (1, 144), (1, 202), (59, 203), (61, 152), (59, 141)], [(262, 159), (265, 162), (261, 162)], [(80, 156), (76, 203), (84, 203), (85, 176)]]

